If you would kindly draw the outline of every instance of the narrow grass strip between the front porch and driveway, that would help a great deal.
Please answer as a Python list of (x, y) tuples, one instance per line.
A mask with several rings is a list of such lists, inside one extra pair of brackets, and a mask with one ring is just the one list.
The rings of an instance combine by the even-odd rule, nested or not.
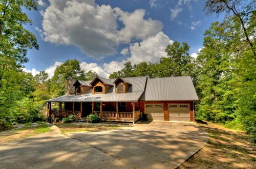
[(111, 130), (123, 127), (122, 125), (75, 125), (75, 124), (56, 124), (62, 133), (92, 130)]

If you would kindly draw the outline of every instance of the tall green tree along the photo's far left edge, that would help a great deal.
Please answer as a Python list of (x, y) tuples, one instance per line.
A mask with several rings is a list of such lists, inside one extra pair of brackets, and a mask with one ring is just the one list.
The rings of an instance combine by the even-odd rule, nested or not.
[(27, 50), (38, 49), (35, 36), (24, 28), (32, 24), (23, 9), (37, 10), (32, 0), (0, 1), (0, 118), (13, 117), (17, 101), (30, 96), (31, 77), (20, 68), (28, 62)]

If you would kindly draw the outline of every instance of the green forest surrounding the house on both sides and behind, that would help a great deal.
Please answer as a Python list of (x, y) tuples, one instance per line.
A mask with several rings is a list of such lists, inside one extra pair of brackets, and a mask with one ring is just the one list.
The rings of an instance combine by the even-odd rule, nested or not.
[[(96, 73), (82, 71), (77, 60), (58, 66), (52, 78), (45, 71), (35, 76), (24, 72), (27, 50), (39, 46), (24, 28), (32, 22), (22, 8), (37, 10), (37, 4), (31, 0), (0, 2), (0, 127), (44, 120), (45, 100), (65, 94), (66, 78), (90, 80)], [(110, 78), (189, 75), (200, 98), (197, 118), (243, 129), (255, 139), (255, 3), (207, 0), (205, 12), (225, 14), (225, 18), (205, 31), (196, 59), (189, 55), (186, 42), (175, 41), (166, 47), (167, 57), (160, 63), (127, 62)]]

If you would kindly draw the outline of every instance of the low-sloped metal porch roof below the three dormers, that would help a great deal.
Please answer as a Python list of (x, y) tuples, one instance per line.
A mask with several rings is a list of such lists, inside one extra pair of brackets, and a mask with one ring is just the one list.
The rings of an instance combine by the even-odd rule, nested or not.
[(133, 102), (138, 101), (143, 91), (129, 93), (64, 95), (46, 102)]

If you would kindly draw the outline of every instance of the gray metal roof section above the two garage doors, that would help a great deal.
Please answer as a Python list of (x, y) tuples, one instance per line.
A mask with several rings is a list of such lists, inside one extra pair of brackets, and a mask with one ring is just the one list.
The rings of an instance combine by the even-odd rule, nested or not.
[(190, 76), (148, 78), (143, 101), (199, 100)]

